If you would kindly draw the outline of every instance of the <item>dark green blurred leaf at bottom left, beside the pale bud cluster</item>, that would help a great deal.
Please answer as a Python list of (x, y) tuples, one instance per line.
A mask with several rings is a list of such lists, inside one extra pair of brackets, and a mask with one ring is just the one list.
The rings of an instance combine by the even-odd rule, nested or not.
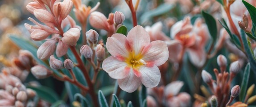
[(27, 88), (30, 88), (30, 89), (36, 91), (39, 98), (41, 98), (49, 103), (55, 103), (59, 100), (56, 92), (46, 86), (38, 86), (38, 87), (27, 86)]

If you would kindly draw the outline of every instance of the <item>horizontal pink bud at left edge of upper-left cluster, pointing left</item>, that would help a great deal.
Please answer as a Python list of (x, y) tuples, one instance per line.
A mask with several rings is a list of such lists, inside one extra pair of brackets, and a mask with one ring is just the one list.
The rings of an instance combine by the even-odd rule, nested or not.
[(46, 32), (45, 30), (35, 29), (31, 34), (30, 38), (34, 41), (42, 41), (50, 36), (51, 33)]

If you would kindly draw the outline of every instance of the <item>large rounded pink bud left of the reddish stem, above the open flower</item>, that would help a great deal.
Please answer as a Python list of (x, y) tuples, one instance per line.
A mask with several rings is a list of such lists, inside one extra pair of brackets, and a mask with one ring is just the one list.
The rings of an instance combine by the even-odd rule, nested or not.
[(92, 12), (89, 18), (89, 22), (91, 26), (96, 29), (108, 29), (107, 17), (104, 16), (101, 12)]

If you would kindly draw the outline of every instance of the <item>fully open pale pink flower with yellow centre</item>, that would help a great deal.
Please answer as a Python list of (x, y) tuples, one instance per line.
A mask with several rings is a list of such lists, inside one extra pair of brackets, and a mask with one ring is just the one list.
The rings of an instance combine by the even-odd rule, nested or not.
[(169, 53), (164, 41), (150, 42), (149, 34), (137, 25), (127, 37), (120, 33), (108, 37), (106, 47), (112, 56), (103, 61), (102, 68), (117, 79), (122, 90), (133, 92), (141, 83), (148, 88), (158, 85), (157, 66), (167, 61)]

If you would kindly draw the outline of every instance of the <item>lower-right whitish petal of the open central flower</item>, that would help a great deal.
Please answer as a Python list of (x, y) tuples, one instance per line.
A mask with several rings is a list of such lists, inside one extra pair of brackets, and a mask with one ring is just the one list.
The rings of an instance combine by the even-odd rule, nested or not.
[(148, 88), (156, 87), (161, 80), (160, 70), (156, 65), (150, 68), (142, 66), (139, 71), (142, 84)]

